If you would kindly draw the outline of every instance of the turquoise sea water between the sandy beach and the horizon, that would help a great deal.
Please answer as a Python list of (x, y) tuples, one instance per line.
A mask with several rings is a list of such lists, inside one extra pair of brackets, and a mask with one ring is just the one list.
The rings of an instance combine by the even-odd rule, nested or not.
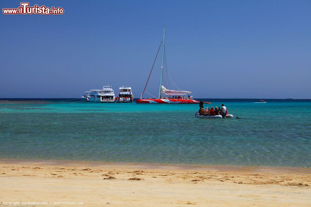
[(0, 158), (311, 167), (311, 100), (206, 100), (242, 119), (75, 101), (0, 101)]

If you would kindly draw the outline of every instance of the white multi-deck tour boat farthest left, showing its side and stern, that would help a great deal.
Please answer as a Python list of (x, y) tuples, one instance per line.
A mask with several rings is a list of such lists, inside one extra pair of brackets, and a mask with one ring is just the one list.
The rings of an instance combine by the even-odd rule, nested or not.
[(104, 86), (103, 90), (91, 90), (89, 101), (98, 103), (113, 103), (114, 90), (111, 86)]

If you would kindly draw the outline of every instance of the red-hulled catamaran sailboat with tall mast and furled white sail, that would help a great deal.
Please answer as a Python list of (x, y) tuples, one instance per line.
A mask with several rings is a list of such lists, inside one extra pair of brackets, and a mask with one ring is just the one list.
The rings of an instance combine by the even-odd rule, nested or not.
[[(145, 86), (145, 89), (144, 91), (142, 92), (142, 96), (140, 99), (137, 99), (136, 100), (136, 103), (155, 103), (155, 104), (169, 104), (169, 103), (173, 103), (173, 104), (198, 104), (199, 101), (197, 100), (193, 100), (190, 95), (191, 92), (190, 91), (183, 91), (183, 90), (180, 90), (177, 86), (177, 88), (180, 90), (180, 91), (176, 91), (176, 90), (170, 90), (170, 89), (167, 89), (169, 88), (169, 83), (168, 83), (168, 72), (167, 72), (167, 66), (166, 66), (166, 55), (165, 55), (165, 47), (164, 47), (164, 37), (165, 37), (165, 26), (164, 26), (164, 29), (163, 29), (163, 37), (162, 37), (162, 42), (160, 44), (160, 47), (162, 46), (162, 65), (161, 65), (161, 70), (160, 70), (160, 86), (159, 86), (159, 96), (158, 98), (155, 97), (155, 98), (142, 98), (143, 95), (144, 95), (144, 92), (146, 91), (146, 86), (148, 84), (148, 81), (149, 81), (149, 78), (150, 78), (150, 75), (151, 75), (151, 72), (152, 72), (152, 69), (153, 69), (153, 66), (156, 62), (156, 59), (155, 61), (153, 62), (153, 65), (152, 65), (152, 68), (151, 68), (151, 71), (150, 71), (150, 74), (149, 74), (149, 77), (148, 77), (148, 80), (147, 80), (147, 83), (146, 83), (146, 86)], [(160, 50), (160, 47), (158, 49), (158, 52), (156, 54), (156, 58), (158, 56), (158, 53), (159, 53), (159, 50)], [(166, 80), (163, 78), (163, 74), (164, 74), (164, 60), (165, 60), (165, 77), (166, 77)], [(166, 88), (165, 86), (163, 86), (162, 84), (162, 80), (164, 79), (164, 82), (166, 83)], [(173, 82), (173, 81), (172, 81)], [(174, 83), (174, 82), (173, 82)], [(174, 83), (175, 84), (175, 83)], [(164, 95), (168, 95), (168, 96), (173, 96), (172, 98), (171, 97), (161, 97), (161, 93), (163, 93)], [(151, 94), (150, 94), (151, 95)], [(182, 95), (188, 95), (188, 97), (186, 96), (183, 96), (181, 97)], [(178, 97), (177, 97), (178, 96)]]

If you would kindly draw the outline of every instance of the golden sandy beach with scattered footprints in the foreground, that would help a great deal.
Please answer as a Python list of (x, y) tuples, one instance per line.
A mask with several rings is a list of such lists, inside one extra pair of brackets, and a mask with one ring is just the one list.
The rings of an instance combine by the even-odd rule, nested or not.
[(299, 168), (1, 160), (0, 205), (311, 206), (310, 172)]

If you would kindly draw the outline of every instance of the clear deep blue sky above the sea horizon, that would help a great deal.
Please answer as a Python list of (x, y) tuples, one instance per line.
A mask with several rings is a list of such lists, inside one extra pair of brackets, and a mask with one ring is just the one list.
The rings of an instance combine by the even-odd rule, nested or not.
[[(194, 97), (311, 98), (311, 1), (29, 3), (64, 14), (1, 14), (1, 98), (74, 98), (108, 83), (138, 98), (163, 25), (169, 73)], [(146, 89), (155, 96), (159, 76), (160, 58)]]

